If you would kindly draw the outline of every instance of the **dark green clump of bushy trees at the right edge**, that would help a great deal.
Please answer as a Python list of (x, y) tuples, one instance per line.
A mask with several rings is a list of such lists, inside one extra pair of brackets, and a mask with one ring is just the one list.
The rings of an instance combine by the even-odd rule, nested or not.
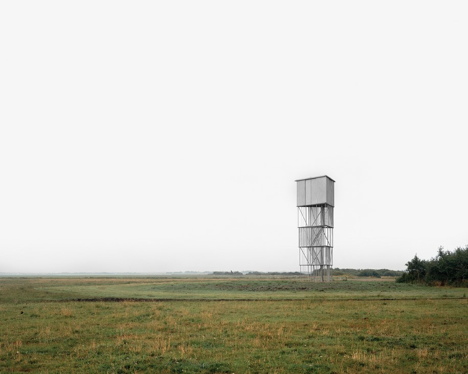
[(406, 263), (407, 269), (396, 282), (427, 285), (454, 285), (468, 287), (468, 245), (445, 251), (439, 247), (431, 260), (421, 260), (417, 255)]

